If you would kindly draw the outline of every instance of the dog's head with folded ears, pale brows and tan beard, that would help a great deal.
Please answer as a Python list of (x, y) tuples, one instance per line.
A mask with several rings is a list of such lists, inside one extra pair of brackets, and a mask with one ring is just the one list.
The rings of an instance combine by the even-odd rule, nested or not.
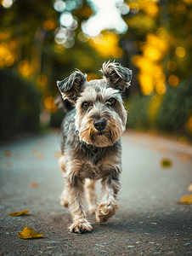
[(104, 62), (103, 79), (87, 81), (76, 70), (58, 81), (63, 99), (76, 108), (76, 130), (81, 141), (96, 147), (111, 146), (121, 137), (127, 124), (127, 112), (121, 93), (130, 86), (132, 71), (116, 62)]

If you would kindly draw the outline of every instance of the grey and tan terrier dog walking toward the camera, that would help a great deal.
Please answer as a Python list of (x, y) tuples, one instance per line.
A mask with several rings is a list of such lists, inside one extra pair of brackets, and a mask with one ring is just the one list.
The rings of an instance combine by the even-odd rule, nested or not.
[[(127, 111), (122, 92), (130, 86), (132, 71), (116, 62), (104, 62), (103, 79), (87, 81), (76, 70), (57, 81), (65, 107), (70, 109), (62, 122), (62, 156), (59, 168), (64, 172), (65, 189), (61, 205), (71, 210), (69, 230), (85, 233), (93, 230), (89, 212), (96, 221), (106, 222), (119, 208), (116, 195), (120, 189), (121, 134), (126, 129)], [(73, 109), (69, 102), (72, 103)], [(97, 202), (95, 182), (101, 179), (102, 199)]]

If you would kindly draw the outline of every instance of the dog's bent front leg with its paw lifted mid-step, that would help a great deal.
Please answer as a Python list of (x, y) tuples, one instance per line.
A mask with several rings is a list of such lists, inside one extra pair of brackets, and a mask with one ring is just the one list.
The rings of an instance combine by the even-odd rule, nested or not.
[(113, 215), (119, 208), (116, 201), (116, 195), (120, 189), (118, 173), (110, 174), (101, 180), (102, 184), (102, 200), (99, 202), (96, 212), (96, 221), (104, 223)]

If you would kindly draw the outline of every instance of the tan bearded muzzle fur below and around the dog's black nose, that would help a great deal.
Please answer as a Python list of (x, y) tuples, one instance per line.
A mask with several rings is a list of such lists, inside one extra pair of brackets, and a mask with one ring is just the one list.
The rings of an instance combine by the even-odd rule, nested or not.
[[(121, 123), (121, 119), (119, 119)], [(116, 120), (108, 120), (108, 124), (104, 131), (97, 131), (93, 126), (93, 119), (89, 119), (86, 123), (82, 124), (79, 130), (80, 141), (91, 144), (95, 147), (104, 148), (112, 146), (121, 137), (125, 127), (116, 123)]]

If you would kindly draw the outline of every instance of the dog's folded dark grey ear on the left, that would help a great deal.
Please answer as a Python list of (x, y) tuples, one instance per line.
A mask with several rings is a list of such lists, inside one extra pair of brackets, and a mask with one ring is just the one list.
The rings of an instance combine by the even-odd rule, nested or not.
[(62, 80), (57, 81), (60, 94), (63, 99), (67, 99), (70, 102), (76, 102), (76, 98), (81, 92), (82, 84), (87, 80), (87, 74), (82, 73), (80, 70), (76, 70), (74, 73)]

